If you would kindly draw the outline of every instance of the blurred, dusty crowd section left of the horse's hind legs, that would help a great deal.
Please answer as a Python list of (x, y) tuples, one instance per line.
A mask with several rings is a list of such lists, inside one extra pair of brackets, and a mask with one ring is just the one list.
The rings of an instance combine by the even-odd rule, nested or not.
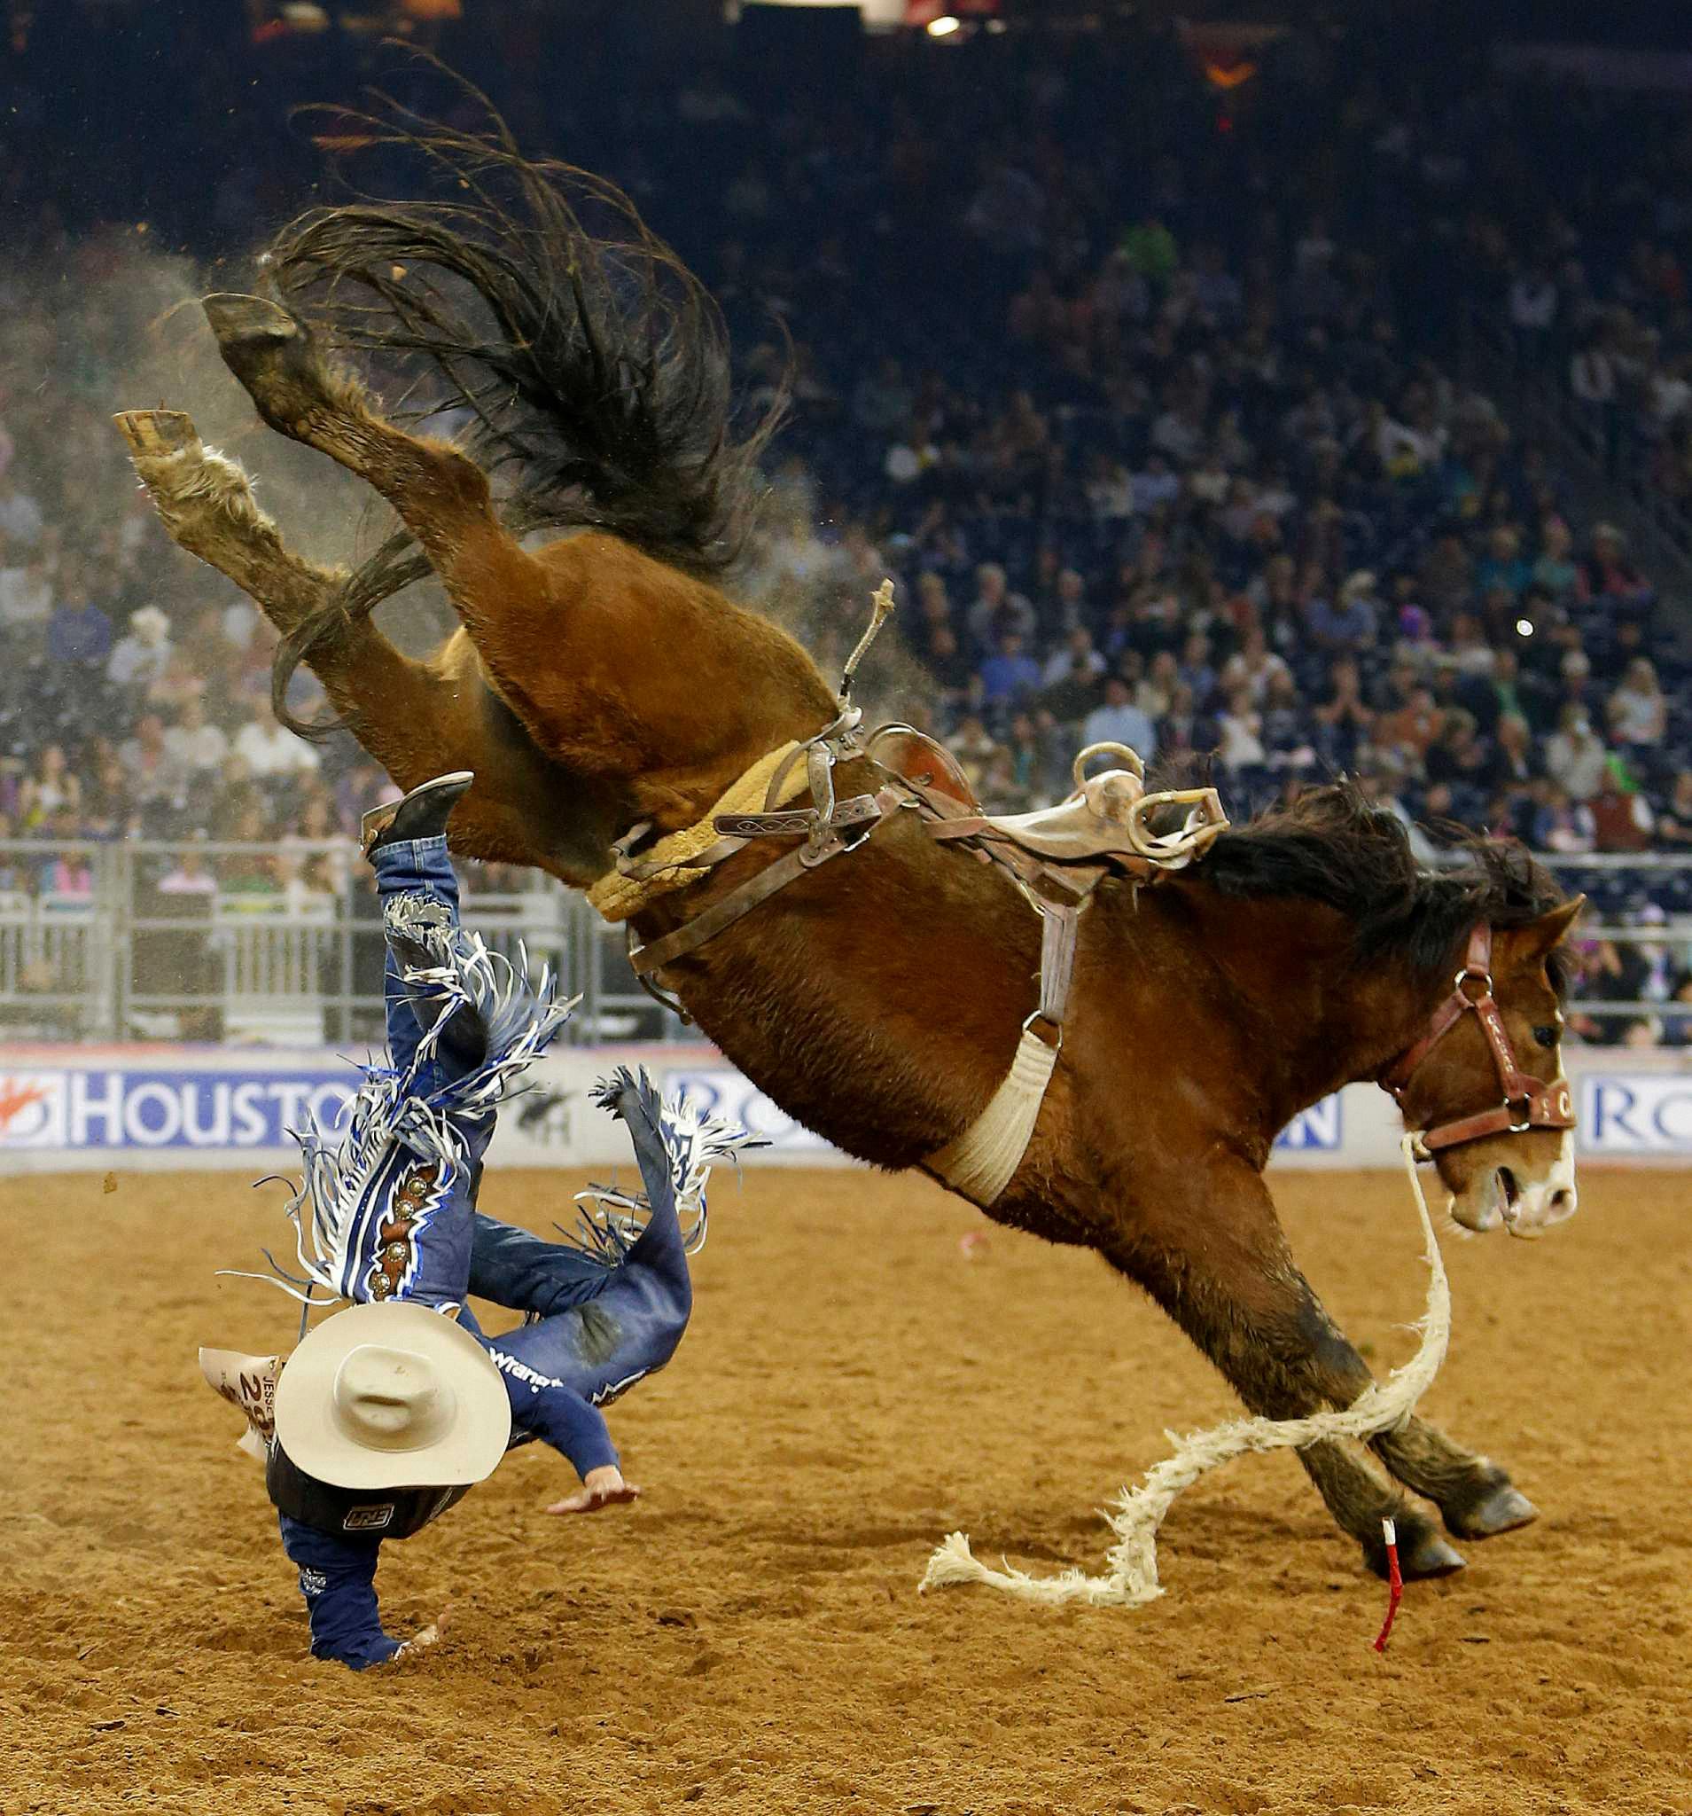
[[(13, 332), (47, 325), (20, 323), (16, 278), (0, 289)], [(85, 294), (71, 329), (94, 334), (107, 305)], [(49, 387), (0, 407), (0, 841), (15, 841), (0, 893), (87, 897), (91, 854), (62, 846), (111, 839), (274, 848), (158, 859), (167, 893), (332, 892), (345, 859), (312, 841), (345, 834), (385, 781), (278, 725), (272, 632), (169, 543), (109, 445), (105, 403)], [(40, 841), (40, 861), (16, 841)]]

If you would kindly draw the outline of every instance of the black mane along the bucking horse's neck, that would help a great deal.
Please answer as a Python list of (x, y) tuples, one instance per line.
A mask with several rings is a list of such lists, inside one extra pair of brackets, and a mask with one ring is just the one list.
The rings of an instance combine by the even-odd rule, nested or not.
[[(1438, 830), (1452, 863), (1427, 870), (1394, 814), (1371, 806), (1353, 783), (1331, 783), (1222, 834), (1195, 875), (1224, 895), (1322, 903), (1354, 924), (1360, 961), (1403, 953), (1429, 972), (1452, 962), (1478, 921), (1523, 926), (1563, 901), (1520, 844)], [(1556, 962), (1552, 982), (1561, 993)]]

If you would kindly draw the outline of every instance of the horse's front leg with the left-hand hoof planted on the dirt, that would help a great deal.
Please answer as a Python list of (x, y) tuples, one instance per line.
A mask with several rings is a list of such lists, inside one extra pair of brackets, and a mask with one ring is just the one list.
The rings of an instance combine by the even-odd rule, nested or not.
[[(1305, 1418), (1351, 1406), (1371, 1384), (1293, 1266), (1264, 1180), (1244, 1159), (1207, 1168), (1136, 1168), (1138, 1215), (1118, 1220), (1104, 1253), (1175, 1318), (1264, 1418)], [(1463, 1558), (1356, 1447), (1322, 1442), (1298, 1453), (1343, 1531), (1378, 1574), (1387, 1571), (1382, 1520), (1398, 1527), (1405, 1576), (1445, 1576)]]

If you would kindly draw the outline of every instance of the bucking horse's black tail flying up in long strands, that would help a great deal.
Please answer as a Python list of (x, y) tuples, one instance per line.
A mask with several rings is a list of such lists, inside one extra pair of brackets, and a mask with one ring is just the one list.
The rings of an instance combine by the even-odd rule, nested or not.
[[(359, 116), (423, 200), (300, 216), (271, 249), (274, 289), (334, 343), (408, 369), (412, 419), (467, 416), (467, 452), (501, 476), (512, 530), (594, 525), (721, 574), (786, 389), (737, 434), (728, 332), (704, 285), (621, 189), (525, 158), (476, 98), (479, 134), (390, 102)], [(352, 597), (392, 590), (401, 568), (389, 559)]]

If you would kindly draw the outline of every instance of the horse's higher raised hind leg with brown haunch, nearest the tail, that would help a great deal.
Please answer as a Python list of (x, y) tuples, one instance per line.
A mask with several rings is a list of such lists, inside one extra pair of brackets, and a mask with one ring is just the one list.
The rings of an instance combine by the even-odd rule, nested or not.
[[(621, 779), (637, 777), (610, 837), (635, 819), (686, 824), (752, 755), (826, 721), (826, 686), (768, 623), (741, 614), (721, 636), (721, 594), (619, 538), (565, 538), (530, 554), (499, 523), (476, 461), (383, 421), (298, 316), (258, 296), (202, 307), (260, 416), (356, 472), (418, 538), (488, 685), (536, 748), (623, 794)], [(648, 643), (688, 650), (686, 665), (670, 665), (663, 726), (630, 705), (630, 674), (650, 685)], [(599, 870), (606, 863), (601, 848)]]

